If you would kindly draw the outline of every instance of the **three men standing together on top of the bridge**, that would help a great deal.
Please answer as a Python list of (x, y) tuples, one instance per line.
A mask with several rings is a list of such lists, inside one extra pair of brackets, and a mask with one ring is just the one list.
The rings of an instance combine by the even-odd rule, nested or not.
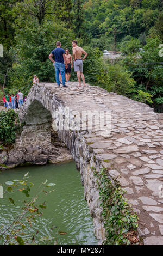
[[(63, 87), (66, 86), (66, 82), (70, 82), (71, 77), (71, 68), (73, 67), (72, 56), (69, 53), (69, 50), (66, 51), (61, 48), (61, 43), (58, 41), (56, 44), (57, 48), (55, 48), (50, 54), (49, 59), (53, 62), (55, 68), (55, 79), (58, 87), (60, 87), (60, 83), (62, 83)], [(83, 86), (85, 86), (85, 77), (83, 74), (83, 60), (87, 57), (86, 51), (83, 48), (78, 46), (76, 40), (72, 41), (72, 52), (73, 52), (73, 60), (74, 60), (74, 72), (77, 72), (78, 77), (78, 87), (81, 87), (81, 78), (83, 80)], [(82, 58), (82, 54), (84, 57)], [(53, 59), (54, 56), (54, 59)]]

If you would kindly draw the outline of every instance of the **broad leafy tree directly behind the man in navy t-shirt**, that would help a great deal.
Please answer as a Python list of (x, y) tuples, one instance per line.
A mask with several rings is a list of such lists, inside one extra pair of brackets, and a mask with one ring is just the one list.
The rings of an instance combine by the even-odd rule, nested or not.
[(61, 41), (63, 48), (71, 48), (74, 33), (63, 22), (26, 21), (24, 29), (15, 28), (16, 46), (12, 48), (16, 59), (9, 76), (11, 92), (21, 89), (27, 95), (32, 86), (32, 77), (37, 75), (40, 82), (54, 82), (54, 66), (49, 61), (49, 53)]

